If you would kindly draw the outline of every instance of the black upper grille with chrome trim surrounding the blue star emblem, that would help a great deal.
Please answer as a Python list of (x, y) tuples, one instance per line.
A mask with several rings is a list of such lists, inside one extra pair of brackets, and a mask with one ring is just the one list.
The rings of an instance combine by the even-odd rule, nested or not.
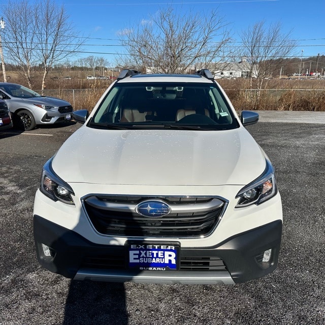
[[(142, 201), (167, 203), (171, 212), (147, 217), (136, 212)], [(210, 234), (225, 208), (217, 198), (91, 196), (83, 201), (87, 215), (100, 234), (127, 237), (204, 237)]]

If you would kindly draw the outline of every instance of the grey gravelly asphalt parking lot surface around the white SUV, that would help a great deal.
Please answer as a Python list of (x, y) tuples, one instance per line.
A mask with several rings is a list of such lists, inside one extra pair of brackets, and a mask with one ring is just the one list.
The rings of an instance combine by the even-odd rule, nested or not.
[(325, 112), (260, 113), (247, 128), (277, 172), (282, 247), (273, 274), (234, 286), (78, 282), (42, 269), (34, 194), (79, 124), (0, 132), (0, 324), (325, 324)]

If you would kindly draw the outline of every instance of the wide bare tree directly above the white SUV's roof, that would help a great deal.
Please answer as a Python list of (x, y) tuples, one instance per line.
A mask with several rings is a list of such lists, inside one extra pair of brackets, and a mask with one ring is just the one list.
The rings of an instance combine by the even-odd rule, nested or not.
[(178, 15), (173, 8), (159, 10), (150, 20), (120, 34), (126, 56), (119, 66), (150, 68), (152, 72), (183, 73), (207, 66), (223, 56), (230, 42), (226, 23), (217, 11), (209, 15)]

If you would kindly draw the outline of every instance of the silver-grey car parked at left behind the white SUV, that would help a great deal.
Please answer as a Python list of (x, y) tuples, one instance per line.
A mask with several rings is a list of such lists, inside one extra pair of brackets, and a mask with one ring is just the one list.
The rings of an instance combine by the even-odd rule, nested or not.
[(42, 96), (24, 86), (0, 82), (0, 99), (11, 112), (14, 126), (29, 131), (39, 124), (70, 121), (73, 107), (58, 98)]

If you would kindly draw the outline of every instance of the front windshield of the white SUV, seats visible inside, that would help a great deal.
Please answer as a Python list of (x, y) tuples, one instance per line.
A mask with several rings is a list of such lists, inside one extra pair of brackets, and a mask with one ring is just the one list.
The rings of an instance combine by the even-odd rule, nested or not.
[(232, 129), (239, 127), (213, 83), (120, 83), (88, 123), (97, 128)]

